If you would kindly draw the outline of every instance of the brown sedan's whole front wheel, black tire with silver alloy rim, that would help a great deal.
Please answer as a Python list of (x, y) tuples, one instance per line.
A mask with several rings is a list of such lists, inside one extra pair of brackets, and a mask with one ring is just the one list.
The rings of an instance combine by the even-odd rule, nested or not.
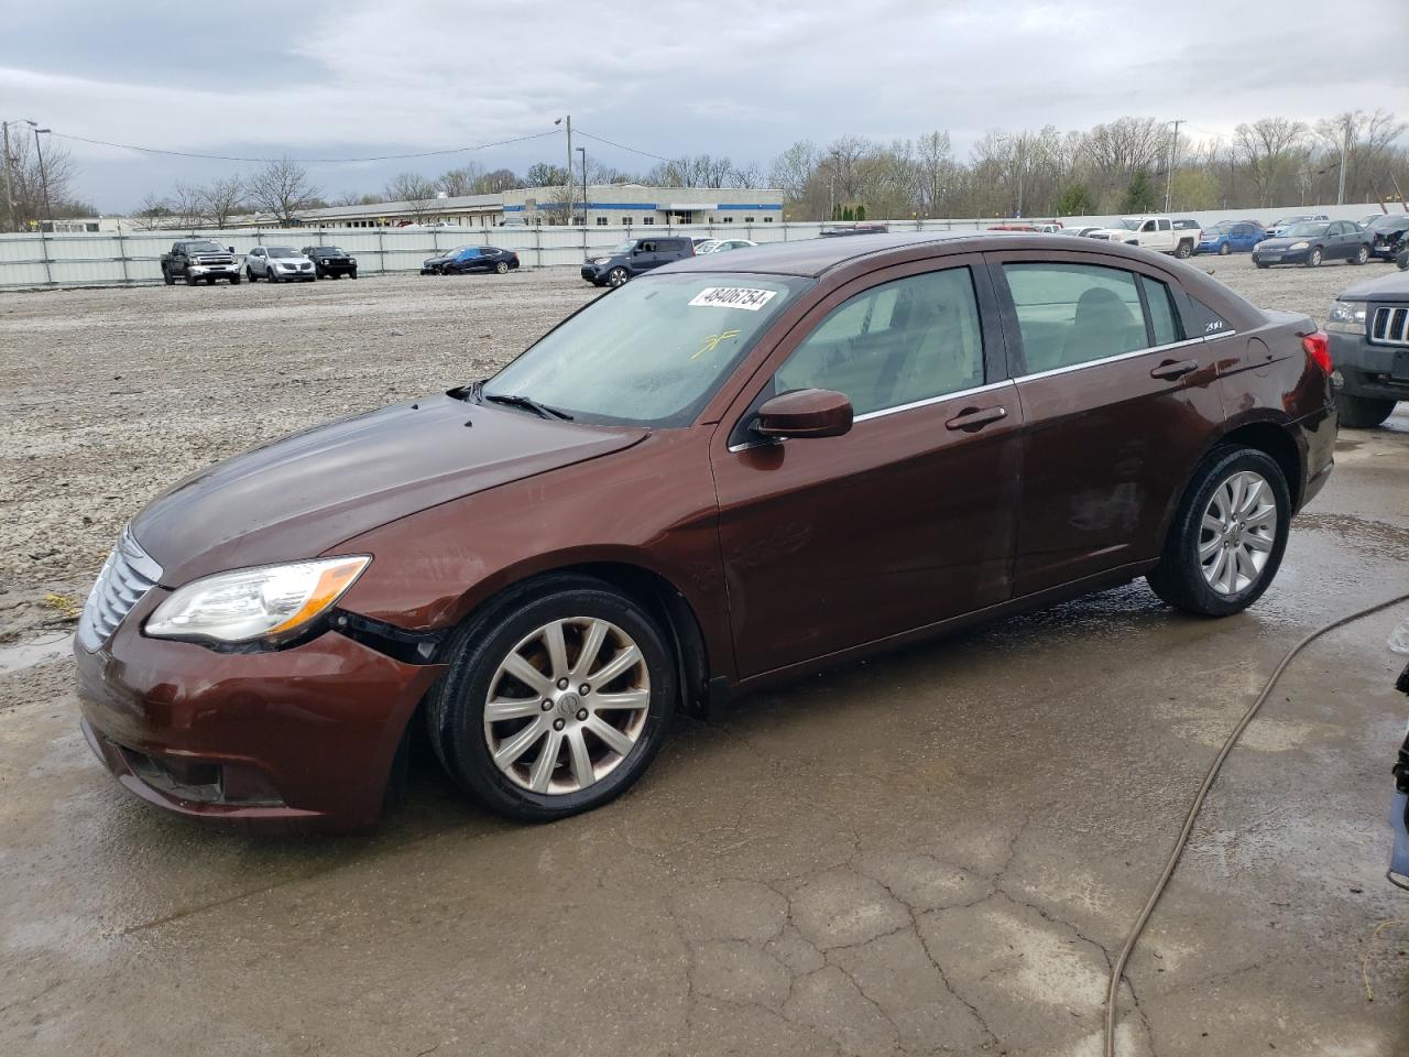
[[(575, 669), (593, 623), (603, 627), (599, 648), (586, 669)], [(554, 665), (540, 633), (554, 626), (564, 629), (558, 671), (571, 674), (566, 689), (542, 674)], [(630, 667), (604, 685), (619, 700), (634, 688), (633, 699), (645, 706), (603, 709), (606, 715), (589, 710), (600, 699), (600, 689), (579, 682), (592, 678), (583, 672), (603, 671), (628, 655), (623, 648), (627, 641), (637, 647), (638, 660), (627, 661)], [(520, 661), (531, 658), (526, 664), (537, 668), (537, 685), (504, 671), (516, 654)], [(510, 589), (459, 629), (448, 657), (448, 668), (427, 700), (431, 743), (441, 764), (472, 798), (510, 819), (550, 822), (614, 799), (650, 765), (675, 713), (675, 660), (655, 620), (609, 583), (588, 576), (547, 576)], [(588, 693), (581, 693), (582, 685), (589, 686)], [(486, 723), (492, 692), (497, 702), (514, 702), (510, 709), (519, 715)], [(550, 698), (544, 695), (552, 695), (554, 702), (547, 710), (542, 700)], [(624, 751), (613, 751), (597, 737), (595, 730), (604, 726), (612, 727), (612, 738)], [(524, 736), (528, 730), (538, 733)], [(519, 755), (500, 768), (495, 750), (513, 751), (516, 737)], [(573, 753), (573, 737), (583, 747), (582, 757)], [(550, 746), (554, 762), (541, 767)], [(588, 775), (586, 782), (581, 774)]]

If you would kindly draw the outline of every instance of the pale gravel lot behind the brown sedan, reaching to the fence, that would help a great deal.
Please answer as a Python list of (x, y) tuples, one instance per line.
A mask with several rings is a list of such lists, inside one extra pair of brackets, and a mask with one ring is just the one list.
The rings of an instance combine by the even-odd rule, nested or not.
[[(1317, 319), (1391, 268), (1195, 264)], [(562, 269), (0, 296), (0, 641), (70, 624), (121, 524), (176, 479), (482, 376), (596, 295)]]

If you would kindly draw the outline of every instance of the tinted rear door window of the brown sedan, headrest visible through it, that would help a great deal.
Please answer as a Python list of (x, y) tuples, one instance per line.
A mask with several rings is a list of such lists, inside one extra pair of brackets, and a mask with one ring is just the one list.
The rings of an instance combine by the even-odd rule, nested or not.
[(1150, 347), (1133, 272), (1100, 265), (1005, 264), (1026, 373)]

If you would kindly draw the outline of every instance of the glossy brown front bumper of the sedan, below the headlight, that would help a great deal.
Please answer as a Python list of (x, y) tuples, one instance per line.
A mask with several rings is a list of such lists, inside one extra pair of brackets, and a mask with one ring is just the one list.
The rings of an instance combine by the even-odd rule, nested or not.
[(137, 629), (166, 596), (151, 591), (97, 650), (75, 644), (83, 733), (108, 771), (186, 816), (375, 826), (406, 724), (444, 667), (335, 631), (245, 654), (144, 637)]

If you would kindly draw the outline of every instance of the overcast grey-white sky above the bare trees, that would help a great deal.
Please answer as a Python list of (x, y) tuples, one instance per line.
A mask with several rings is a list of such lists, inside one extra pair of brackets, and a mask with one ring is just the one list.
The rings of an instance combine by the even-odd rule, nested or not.
[[(1140, 14), (1141, 8), (1144, 14)], [(1409, 80), (1406, 0), (766, 4), (396, 0), (173, 4), (0, 0), (0, 117), (172, 151), (354, 158), (578, 128), (659, 155), (766, 162), (796, 140), (1239, 121), (1384, 107)], [(1377, 42), (1382, 45), (1378, 51)], [(132, 209), (248, 169), (68, 141), (79, 193)], [(627, 171), (651, 158), (575, 144)], [(310, 165), (331, 197), (473, 158), (523, 172), (561, 137), (423, 161)]]

